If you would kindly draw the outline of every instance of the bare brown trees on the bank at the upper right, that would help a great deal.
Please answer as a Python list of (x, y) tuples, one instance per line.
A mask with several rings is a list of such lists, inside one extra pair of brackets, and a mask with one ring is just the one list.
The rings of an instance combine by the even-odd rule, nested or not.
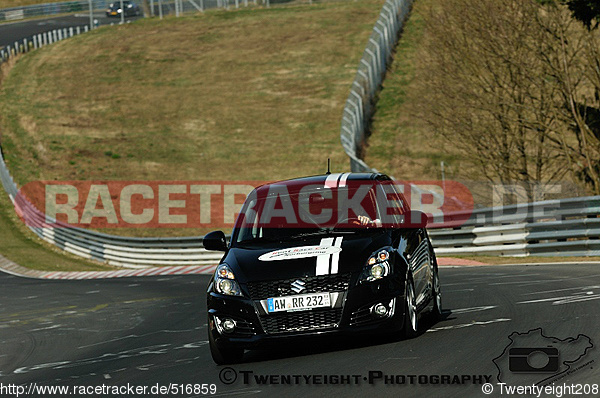
[(600, 195), (600, 1), (443, 0), (424, 19), (419, 117), (490, 181)]

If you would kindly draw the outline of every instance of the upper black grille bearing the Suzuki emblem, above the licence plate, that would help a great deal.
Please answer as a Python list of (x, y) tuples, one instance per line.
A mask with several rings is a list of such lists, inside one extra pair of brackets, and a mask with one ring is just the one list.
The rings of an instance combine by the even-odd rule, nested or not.
[[(292, 283), (300, 279), (305, 283), (304, 290), (297, 293)], [(282, 279), (278, 281), (248, 283), (248, 291), (253, 300), (270, 297), (292, 296), (305, 293), (343, 292), (350, 285), (350, 274), (320, 275), (306, 278)]]

